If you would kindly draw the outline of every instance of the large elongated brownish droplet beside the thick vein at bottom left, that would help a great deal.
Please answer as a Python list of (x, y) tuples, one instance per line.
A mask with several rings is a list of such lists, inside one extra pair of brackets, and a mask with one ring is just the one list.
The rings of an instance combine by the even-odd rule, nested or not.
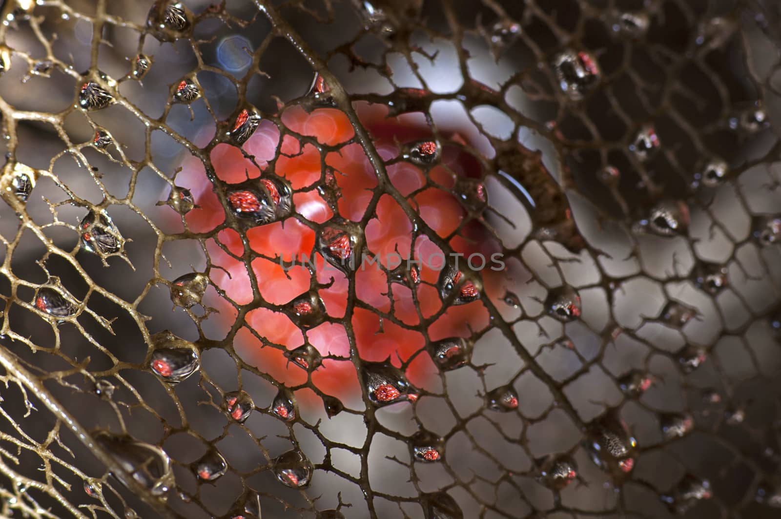
[(133, 488), (130, 481), (135, 481), (152, 496), (166, 499), (175, 480), (171, 460), (162, 449), (127, 435), (113, 435), (109, 431), (98, 431), (94, 438), (119, 464), (121, 471), (114, 474), (119, 481), (129, 489)]

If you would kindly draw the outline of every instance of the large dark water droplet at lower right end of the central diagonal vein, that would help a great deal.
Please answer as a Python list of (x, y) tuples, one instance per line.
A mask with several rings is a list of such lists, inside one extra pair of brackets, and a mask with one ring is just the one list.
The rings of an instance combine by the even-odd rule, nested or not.
[(587, 428), (583, 448), (597, 467), (620, 479), (632, 471), (637, 441), (626, 428), (616, 410), (608, 410)]

